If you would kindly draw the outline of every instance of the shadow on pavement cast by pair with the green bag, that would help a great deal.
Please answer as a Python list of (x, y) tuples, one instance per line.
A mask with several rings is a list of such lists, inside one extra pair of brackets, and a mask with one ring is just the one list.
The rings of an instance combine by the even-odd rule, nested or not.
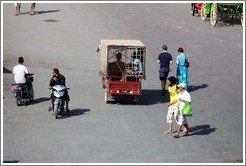
[(191, 135), (208, 135), (212, 132), (215, 132), (217, 128), (211, 128), (210, 125), (198, 125), (190, 127)]

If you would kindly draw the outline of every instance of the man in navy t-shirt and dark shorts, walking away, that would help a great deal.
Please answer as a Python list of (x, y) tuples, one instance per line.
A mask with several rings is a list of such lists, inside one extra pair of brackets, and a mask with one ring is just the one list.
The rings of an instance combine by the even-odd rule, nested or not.
[(162, 95), (165, 95), (165, 87), (167, 77), (170, 71), (170, 64), (173, 63), (173, 58), (170, 53), (167, 52), (167, 46), (162, 46), (163, 52), (159, 54), (157, 63), (160, 64), (159, 78), (161, 80)]

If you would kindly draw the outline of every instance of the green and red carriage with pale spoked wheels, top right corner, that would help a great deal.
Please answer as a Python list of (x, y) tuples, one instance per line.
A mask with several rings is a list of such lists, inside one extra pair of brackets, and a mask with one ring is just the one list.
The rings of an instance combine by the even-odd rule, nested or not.
[(231, 22), (234, 17), (241, 18), (243, 25), (243, 3), (194, 3), (192, 15), (199, 10), (201, 19), (205, 21), (209, 17), (212, 26), (220, 20)]

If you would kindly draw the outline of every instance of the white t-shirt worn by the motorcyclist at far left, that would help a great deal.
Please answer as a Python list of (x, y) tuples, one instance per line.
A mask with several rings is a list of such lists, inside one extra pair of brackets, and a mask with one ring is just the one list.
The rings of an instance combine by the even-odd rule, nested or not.
[(13, 68), (13, 73), (14, 73), (14, 79), (15, 79), (15, 83), (17, 84), (21, 84), (21, 83), (26, 83), (26, 78), (25, 78), (25, 74), (28, 74), (28, 70), (26, 68), (26, 66), (24, 65), (16, 65)]

